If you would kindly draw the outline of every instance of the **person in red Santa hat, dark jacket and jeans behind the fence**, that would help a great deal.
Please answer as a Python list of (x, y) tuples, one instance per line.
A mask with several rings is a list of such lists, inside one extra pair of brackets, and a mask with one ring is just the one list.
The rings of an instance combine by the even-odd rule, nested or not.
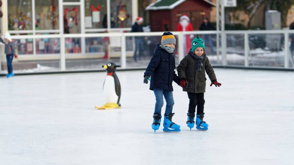
[[(143, 32), (143, 18), (142, 17), (138, 17), (136, 19), (136, 22), (133, 24), (132, 26), (132, 30), (131, 32)], [(137, 51), (139, 51), (138, 53), (138, 58), (140, 60), (141, 55), (143, 53), (143, 36), (136, 36), (135, 38), (135, 50), (134, 50), (134, 61), (137, 61)]]

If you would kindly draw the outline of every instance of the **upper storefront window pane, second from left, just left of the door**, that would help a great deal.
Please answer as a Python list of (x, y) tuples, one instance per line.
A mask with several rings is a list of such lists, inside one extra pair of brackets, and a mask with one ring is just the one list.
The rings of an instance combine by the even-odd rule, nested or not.
[(35, 1), (36, 30), (59, 29), (58, 0)]

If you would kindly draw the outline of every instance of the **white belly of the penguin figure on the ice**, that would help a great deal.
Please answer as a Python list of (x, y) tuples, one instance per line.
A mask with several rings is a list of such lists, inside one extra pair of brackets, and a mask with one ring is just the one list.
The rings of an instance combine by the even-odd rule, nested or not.
[(118, 96), (115, 92), (114, 78), (107, 75), (103, 86), (103, 95), (106, 103), (117, 103)]

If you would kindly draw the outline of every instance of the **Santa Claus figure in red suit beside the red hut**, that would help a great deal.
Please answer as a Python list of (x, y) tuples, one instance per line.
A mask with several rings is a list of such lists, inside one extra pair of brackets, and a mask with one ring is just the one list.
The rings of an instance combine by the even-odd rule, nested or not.
[[(186, 14), (183, 14), (183, 16), (180, 17), (177, 31), (193, 31), (192, 24), (190, 23), (190, 18)], [(191, 38), (193, 37), (194, 36), (192, 34), (190, 36), (184, 35), (185, 55), (187, 55), (189, 50), (191, 49)]]

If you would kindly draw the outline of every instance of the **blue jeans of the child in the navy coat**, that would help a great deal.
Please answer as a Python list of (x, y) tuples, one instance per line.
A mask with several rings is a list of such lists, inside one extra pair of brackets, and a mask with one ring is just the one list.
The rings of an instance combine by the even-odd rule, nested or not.
[(173, 91), (164, 89), (154, 89), (154, 95), (156, 98), (154, 113), (161, 114), (161, 107), (163, 106), (163, 96), (166, 100), (166, 111), (165, 114), (169, 115), (173, 112)]

